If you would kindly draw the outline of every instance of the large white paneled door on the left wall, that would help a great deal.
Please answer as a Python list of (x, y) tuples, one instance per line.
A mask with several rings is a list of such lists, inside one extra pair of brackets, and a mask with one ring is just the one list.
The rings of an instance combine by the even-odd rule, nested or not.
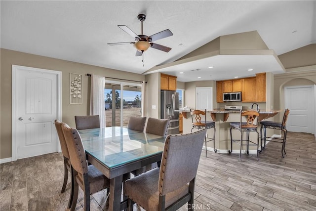
[(12, 160), (58, 151), (61, 72), (12, 65)]

